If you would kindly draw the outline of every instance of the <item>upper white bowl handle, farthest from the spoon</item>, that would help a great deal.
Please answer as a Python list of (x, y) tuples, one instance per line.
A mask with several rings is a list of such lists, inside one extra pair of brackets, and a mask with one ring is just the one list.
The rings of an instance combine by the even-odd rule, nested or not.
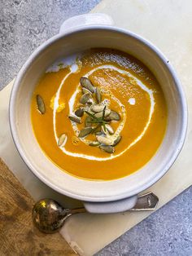
[(60, 26), (59, 33), (72, 32), (76, 28), (85, 27), (88, 25), (112, 25), (114, 21), (111, 16), (105, 13), (88, 13), (83, 15), (76, 15), (68, 20), (65, 20)]

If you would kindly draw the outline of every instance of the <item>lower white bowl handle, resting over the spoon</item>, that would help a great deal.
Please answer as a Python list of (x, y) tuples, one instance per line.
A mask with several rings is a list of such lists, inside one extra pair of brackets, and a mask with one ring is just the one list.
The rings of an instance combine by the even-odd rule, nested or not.
[(137, 196), (131, 196), (118, 201), (84, 202), (85, 209), (91, 214), (114, 214), (130, 210), (136, 205)]

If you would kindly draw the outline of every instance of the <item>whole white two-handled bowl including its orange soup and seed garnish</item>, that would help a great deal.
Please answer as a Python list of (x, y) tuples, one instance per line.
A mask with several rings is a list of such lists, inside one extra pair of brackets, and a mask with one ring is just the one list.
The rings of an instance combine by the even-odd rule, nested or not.
[(50, 188), (92, 213), (129, 210), (185, 140), (177, 74), (151, 42), (103, 14), (67, 20), (16, 77), (15, 146)]

